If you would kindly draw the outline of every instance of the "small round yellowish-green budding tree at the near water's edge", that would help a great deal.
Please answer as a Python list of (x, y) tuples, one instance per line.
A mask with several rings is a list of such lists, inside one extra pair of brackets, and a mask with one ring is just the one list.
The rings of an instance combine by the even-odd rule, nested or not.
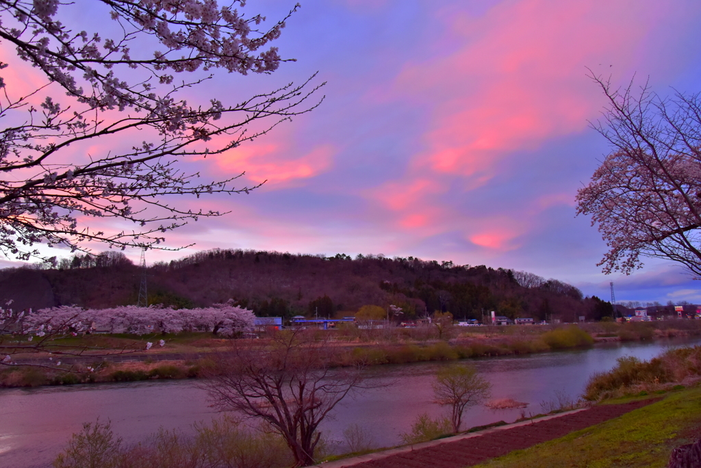
[(482, 403), (491, 392), (491, 383), (474, 366), (461, 364), (439, 369), (431, 385), (437, 403), (451, 407), (453, 432), (460, 430), (465, 408)]

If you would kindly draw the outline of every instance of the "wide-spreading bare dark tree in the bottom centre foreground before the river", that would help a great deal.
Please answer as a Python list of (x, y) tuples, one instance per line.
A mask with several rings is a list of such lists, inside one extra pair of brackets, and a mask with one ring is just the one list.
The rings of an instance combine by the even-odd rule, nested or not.
[(314, 464), (318, 427), (346, 395), (362, 387), (360, 367), (332, 367), (330, 347), (310, 331), (271, 340), (235, 340), (215, 359), (205, 387), (215, 408), (262, 420), (285, 438), (295, 466)]

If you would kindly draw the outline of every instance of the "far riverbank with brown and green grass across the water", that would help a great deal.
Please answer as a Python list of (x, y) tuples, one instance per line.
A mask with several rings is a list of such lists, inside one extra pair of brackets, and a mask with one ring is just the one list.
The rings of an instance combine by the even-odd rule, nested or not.
[[(701, 334), (695, 321), (617, 324), (599, 322), (569, 326), (451, 327), (445, 340), (418, 340), (426, 335), (416, 330), (388, 329), (320, 331), (320, 339), (331, 345), (329, 358), (336, 366), (408, 364), (475, 357), (527, 355), (554, 350), (590, 347), (610, 341), (654, 340)], [(430, 331), (430, 330), (428, 330)], [(414, 336), (414, 338), (411, 338)], [(411, 339), (410, 339), (411, 338)], [(261, 338), (264, 339), (264, 338)], [(164, 346), (144, 351), (146, 343)], [(77, 383), (125, 382), (156, 379), (199, 378), (210, 365), (210, 357), (226, 352), (229, 340), (207, 333), (154, 336), (86, 336), (57, 340), (54, 351), (83, 352), (81, 356), (51, 354), (18, 355), (16, 362), (0, 371), (0, 387), (37, 387)], [(86, 347), (86, 350), (81, 350)], [(91, 356), (90, 349), (120, 350), (109, 356)], [(49, 348), (52, 349), (52, 348)]]

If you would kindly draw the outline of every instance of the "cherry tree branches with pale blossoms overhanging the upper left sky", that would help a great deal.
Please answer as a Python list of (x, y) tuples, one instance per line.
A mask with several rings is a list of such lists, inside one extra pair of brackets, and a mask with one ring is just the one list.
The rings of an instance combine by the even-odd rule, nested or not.
[[(179, 165), (234, 149), (317, 105), (306, 105), (317, 89), (308, 90), (309, 81), (233, 103), (197, 102), (191, 89), (203, 88), (215, 69), (269, 74), (283, 62), (270, 43), (297, 6), (261, 30), (264, 18), (233, 6), (100, 0), (86, 15), (83, 4), (0, 0), (0, 41), (17, 55), (0, 62), (1, 252), (28, 259), (39, 243), (75, 251), (88, 241), (154, 247), (168, 230), (224, 214), (174, 205), (171, 195), (256, 188), (235, 188), (238, 173), (198, 181), (198, 172)], [(100, 32), (100, 15), (116, 27)], [(93, 31), (72, 30), (79, 18)], [(22, 60), (36, 70), (25, 83), (11, 78), (24, 72)], [(98, 224), (104, 219), (135, 228), (109, 232)]]

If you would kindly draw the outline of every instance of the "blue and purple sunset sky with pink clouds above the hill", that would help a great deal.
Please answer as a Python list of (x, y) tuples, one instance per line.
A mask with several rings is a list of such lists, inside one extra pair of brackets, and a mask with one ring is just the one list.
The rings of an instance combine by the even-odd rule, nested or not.
[[(149, 251), (149, 263), (215, 247), (415, 256), (526, 270), (606, 299), (614, 282), (618, 301), (701, 302), (701, 283), (669, 261), (601, 273), (606, 245), (574, 201), (609, 151), (591, 128), (606, 103), (589, 75), (698, 92), (701, 3), (301, 4), (275, 44), (296, 62), (269, 76), (217, 74), (193, 99), (237, 102), (316, 72), (325, 99), (250, 144), (189, 161), (203, 177), (245, 171), (248, 184), (266, 183), (197, 200), (230, 213), (168, 233), (169, 247), (196, 245)], [(245, 11), (274, 20), (293, 5), (250, 0)]]

